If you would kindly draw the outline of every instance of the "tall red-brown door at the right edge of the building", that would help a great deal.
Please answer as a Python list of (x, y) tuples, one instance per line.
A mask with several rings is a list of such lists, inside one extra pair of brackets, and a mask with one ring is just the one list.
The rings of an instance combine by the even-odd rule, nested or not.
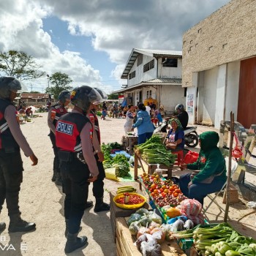
[(237, 121), (245, 128), (256, 124), (256, 57), (241, 61)]

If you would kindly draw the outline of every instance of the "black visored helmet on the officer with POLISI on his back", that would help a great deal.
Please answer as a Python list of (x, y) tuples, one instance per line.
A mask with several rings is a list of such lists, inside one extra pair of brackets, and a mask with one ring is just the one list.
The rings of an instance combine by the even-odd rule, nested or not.
[(91, 103), (102, 102), (99, 92), (90, 86), (80, 86), (71, 92), (71, 103), (84, 112), (89, 109)]

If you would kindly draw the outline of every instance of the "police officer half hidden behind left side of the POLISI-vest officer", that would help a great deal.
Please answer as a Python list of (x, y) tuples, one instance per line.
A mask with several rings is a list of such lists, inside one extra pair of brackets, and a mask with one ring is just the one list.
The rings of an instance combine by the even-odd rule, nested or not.
[(61, 116), (67, 113), (66, 106), (70, 102), (70, 93), (69, 91), (61, 91), (58, 97), (58, 102), (56, 105), (50, 107), (48, 112), (48, 127), (50, 128), (50, 141), (53, 144), (53, 178), (52, 181), (55, 181), (56, 185), (61, 186), (61, 174), (59, 169), (59, 157), (58, 157), (58, 148), (56, 147), (56, 139), (55, 139), (55, 129), (57, 121)]

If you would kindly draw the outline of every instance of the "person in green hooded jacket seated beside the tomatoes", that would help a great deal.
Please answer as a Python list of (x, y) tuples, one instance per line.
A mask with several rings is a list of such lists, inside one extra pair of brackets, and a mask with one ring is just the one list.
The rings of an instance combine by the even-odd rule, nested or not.
[(199, 135), (201, 149), (197, 162), (182, 165), (197, 172), (179, 178), (181, 191), (187, 197), (198, 200), (202, 206), (203, 198), (208, 194), (219, 192), (227, 179), (225, 159), (217, 146), (218, 142), (217, 132), (203, 132)]

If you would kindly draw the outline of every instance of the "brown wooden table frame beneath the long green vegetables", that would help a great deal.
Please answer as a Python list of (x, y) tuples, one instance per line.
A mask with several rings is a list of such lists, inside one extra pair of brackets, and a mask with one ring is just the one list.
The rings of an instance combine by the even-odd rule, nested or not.
[[(135, 151), (135, 163), (134, 163), (134, 169), (135, 169), (135, 180), (138, 180), (138, 162), (140, 162), (140, 166), (143, 169), (143, 172), (146, 172), (144, 167), (143, 167), (143, 163), (145, 162), (143, 159), (141, 159), (140, 154), (138, 154), (137, 151)], [(148, 164), (147, 162), (145, 162), (145, 164), (148, 166), (148, 170), (147, 172), (149, 174), (154, 173), (154, 171), (157, 169), (157, 164)], [(170, 179), (172, 178), (172, 171), (173, 171), (173, 165), (170, 166), (166, 166), (166, 165), (159, 165), (159, 168), (165, 170), (167, 172), (167, 178)]]

